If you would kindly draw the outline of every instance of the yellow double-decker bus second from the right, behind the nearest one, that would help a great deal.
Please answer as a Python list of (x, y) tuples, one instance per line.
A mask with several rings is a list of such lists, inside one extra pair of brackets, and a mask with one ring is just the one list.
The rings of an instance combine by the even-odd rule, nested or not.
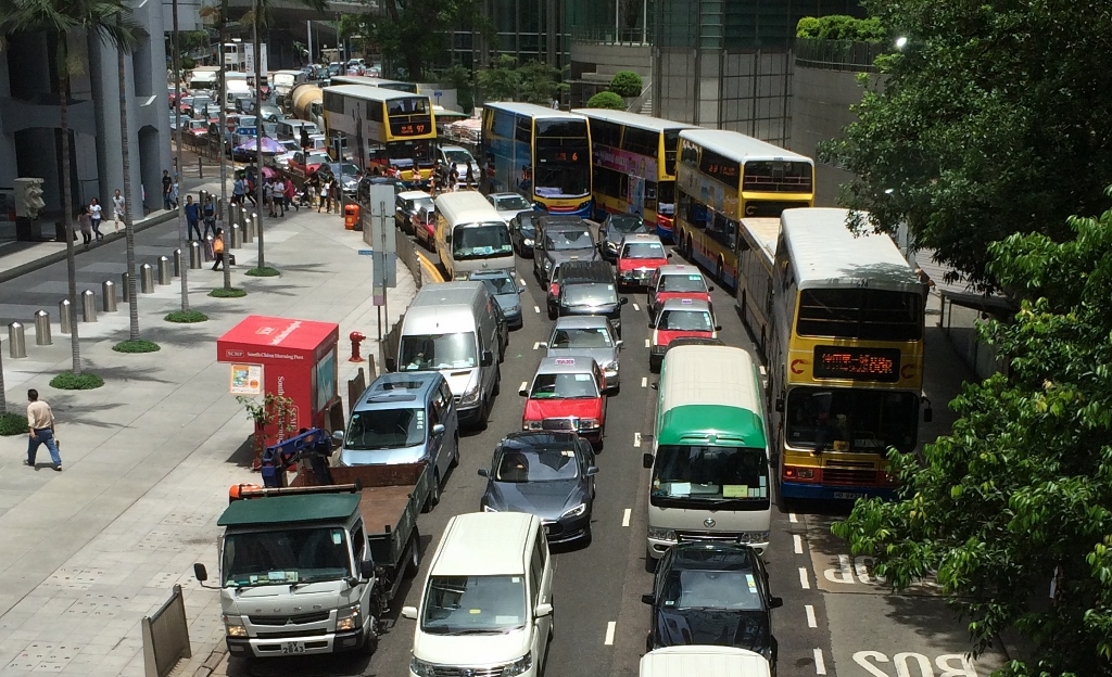
[(741, 220), (813, 206), (814, 173), (811, 158), (736, 131), (679, 132), (676, 245), (735, 288)]

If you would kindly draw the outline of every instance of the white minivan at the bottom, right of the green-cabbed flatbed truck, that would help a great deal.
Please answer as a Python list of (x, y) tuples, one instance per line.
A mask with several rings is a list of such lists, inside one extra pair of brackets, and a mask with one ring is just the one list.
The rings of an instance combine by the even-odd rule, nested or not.
[(553, 635), (553, 562), (540, 519), (525, 512), (453, 517), (433, 556), (410, 677), (536, 677)]

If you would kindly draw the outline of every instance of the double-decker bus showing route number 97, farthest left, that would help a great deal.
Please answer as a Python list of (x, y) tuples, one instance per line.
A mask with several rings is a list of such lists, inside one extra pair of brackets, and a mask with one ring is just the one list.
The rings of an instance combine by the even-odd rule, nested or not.
[(428, 182), (436, 122), (427, 96), (363, 84), (326, 87), (324, 112), (329, 142), (344, 135), (365, 171), (394, 168), (403, 181)]

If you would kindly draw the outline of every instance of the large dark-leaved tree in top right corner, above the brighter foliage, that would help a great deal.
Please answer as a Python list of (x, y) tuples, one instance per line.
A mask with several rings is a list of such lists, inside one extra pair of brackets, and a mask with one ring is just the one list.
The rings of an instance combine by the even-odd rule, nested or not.
[[(1112, 176), (1112, 12), (1082, 2), (868, 4), (903, 49), (877, 60), (858, 120), (820, 158), (855, 175), (840, 201), (991, 285), (989, 243), (1069, 237)], [(866, 80), (868, 82), (868, 80)], [(873, 82), (877, 82), (873, 80)]]

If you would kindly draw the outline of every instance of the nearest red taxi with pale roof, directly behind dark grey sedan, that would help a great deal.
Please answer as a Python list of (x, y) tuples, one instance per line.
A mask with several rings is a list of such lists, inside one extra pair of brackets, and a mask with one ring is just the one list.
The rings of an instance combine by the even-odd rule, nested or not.
[(603, 444), (606, 429), (606, 378), (589, 357), (546, 357), (533, 384), (522, 389), (523, 430), (573, 430)]

